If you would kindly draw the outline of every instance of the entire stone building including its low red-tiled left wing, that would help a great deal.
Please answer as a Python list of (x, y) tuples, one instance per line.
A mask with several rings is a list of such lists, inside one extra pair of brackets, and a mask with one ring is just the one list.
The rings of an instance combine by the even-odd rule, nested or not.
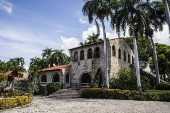
[[(117, 77), (122, 68), (133, 64), (133, 51), (127, 43), (127, 38), (107, 40), (109, 80)], [(79, 46), (69, 50), (71, 63), (55, 66), (40, 71), (40, 83), (58, 82), (65, 88), (86, 87), (90, 83), (102, 84), (105, 80), (104, 42)]]

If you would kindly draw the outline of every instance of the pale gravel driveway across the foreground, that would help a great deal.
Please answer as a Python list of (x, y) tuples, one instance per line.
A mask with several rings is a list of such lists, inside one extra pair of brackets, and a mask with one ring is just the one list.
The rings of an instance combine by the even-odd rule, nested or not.
[(31, 105), (2, 113), (170, 113), (170, 102), (34, 97)]

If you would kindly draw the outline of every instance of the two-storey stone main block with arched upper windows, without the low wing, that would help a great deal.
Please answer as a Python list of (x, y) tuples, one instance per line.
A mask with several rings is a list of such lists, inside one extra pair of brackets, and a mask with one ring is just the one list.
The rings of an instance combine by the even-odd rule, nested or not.
[[(117, 77), (122, 68), (133, 63), (133, 51), (127, 39), (116, 38), (107, 41), (109, 80)], [(71, 85), (83, 87), (93, 82), (103, 83), (105, 79), (104, 42), (84, 45), (70, 49)]]

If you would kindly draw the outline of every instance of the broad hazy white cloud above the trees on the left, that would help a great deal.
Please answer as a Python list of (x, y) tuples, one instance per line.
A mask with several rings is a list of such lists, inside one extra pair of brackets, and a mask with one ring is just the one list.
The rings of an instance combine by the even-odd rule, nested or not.
[(50, 39), (43, 33), (34, 33), (30, 30), (24, 31), (11, 26), (0, 29), (1, 58), (24, 57), (26, 67), (28, 67), (29, 59), (40, 56), (42, 50), (47, 47), (59, 48), (57, 38)]

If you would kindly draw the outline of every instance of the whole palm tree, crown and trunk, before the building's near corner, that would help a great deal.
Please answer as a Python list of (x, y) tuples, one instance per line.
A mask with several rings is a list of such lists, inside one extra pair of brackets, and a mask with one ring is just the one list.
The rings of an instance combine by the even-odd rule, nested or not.
[(108, 77), (108, 53), (107, 53), (107, 38), (105, 29), (105, 18), (109, 18), (111, 14), (110, 7), (111, 0), (87, 0), (83, 6), (83, 14), (88, 16), (89, 23), (92, 23), (94, 19), (99, 20), (102, 24), (103, 38), (104, 38), (104, 60), (105, 60), (105, 87), (109, 88)]

